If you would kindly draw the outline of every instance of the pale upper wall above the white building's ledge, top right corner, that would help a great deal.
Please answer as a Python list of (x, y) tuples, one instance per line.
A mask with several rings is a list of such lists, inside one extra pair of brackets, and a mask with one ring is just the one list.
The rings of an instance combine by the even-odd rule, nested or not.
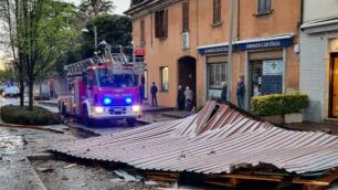
[(338, 18), (338, 0), (304, 0), (304, 21)]

